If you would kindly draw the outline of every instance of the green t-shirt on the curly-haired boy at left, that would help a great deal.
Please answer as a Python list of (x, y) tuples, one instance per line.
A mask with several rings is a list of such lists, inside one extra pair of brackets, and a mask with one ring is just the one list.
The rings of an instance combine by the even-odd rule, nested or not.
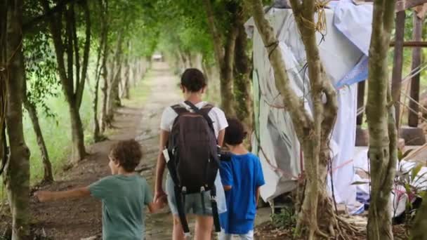
[(152, 194), (139, 175), (111, 175), (89, 186), (103, 201), (103, 240), (140, 240), (145, 235), (145, 206)]

